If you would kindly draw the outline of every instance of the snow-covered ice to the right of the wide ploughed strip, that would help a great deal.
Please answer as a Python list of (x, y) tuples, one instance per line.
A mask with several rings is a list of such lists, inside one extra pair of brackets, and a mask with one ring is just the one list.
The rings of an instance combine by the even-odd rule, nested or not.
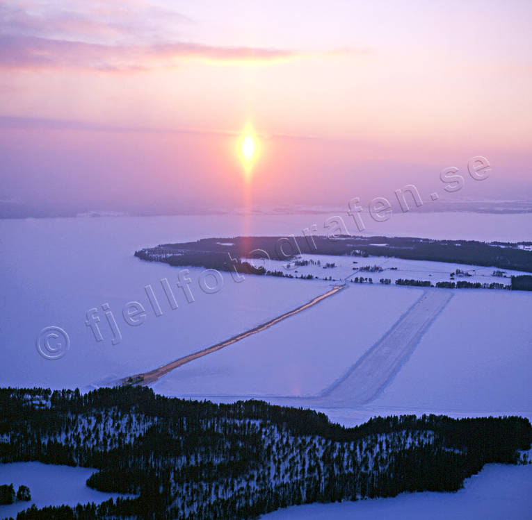
[(532, 415), (532, 293), (456, 290), (375, 408)]

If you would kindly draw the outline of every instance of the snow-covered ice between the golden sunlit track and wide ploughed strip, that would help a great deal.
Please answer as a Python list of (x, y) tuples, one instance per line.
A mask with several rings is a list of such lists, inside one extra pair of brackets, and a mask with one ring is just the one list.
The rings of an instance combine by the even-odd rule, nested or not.
[(318, 394), (421, 294), (423, 290), (413, 287), (349, 285), (264, 332), (179, 367), (153, 388), (160, 394), (182, 396)]

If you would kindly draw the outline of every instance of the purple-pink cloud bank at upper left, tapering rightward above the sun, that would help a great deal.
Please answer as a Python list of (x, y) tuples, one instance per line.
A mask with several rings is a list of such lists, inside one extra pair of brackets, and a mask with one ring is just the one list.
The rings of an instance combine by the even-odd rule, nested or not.
[[(180, 60), (265, 64), (324, 53), (229, 47), (189, 42), (180, 27), (193, 24), (175, 10), (137, 0), (83, 3), (83, 11), (0, 1), (0, 69), (131, 71), (172, 67)], [(328, 51), (327, 53), (345, 51)]]

